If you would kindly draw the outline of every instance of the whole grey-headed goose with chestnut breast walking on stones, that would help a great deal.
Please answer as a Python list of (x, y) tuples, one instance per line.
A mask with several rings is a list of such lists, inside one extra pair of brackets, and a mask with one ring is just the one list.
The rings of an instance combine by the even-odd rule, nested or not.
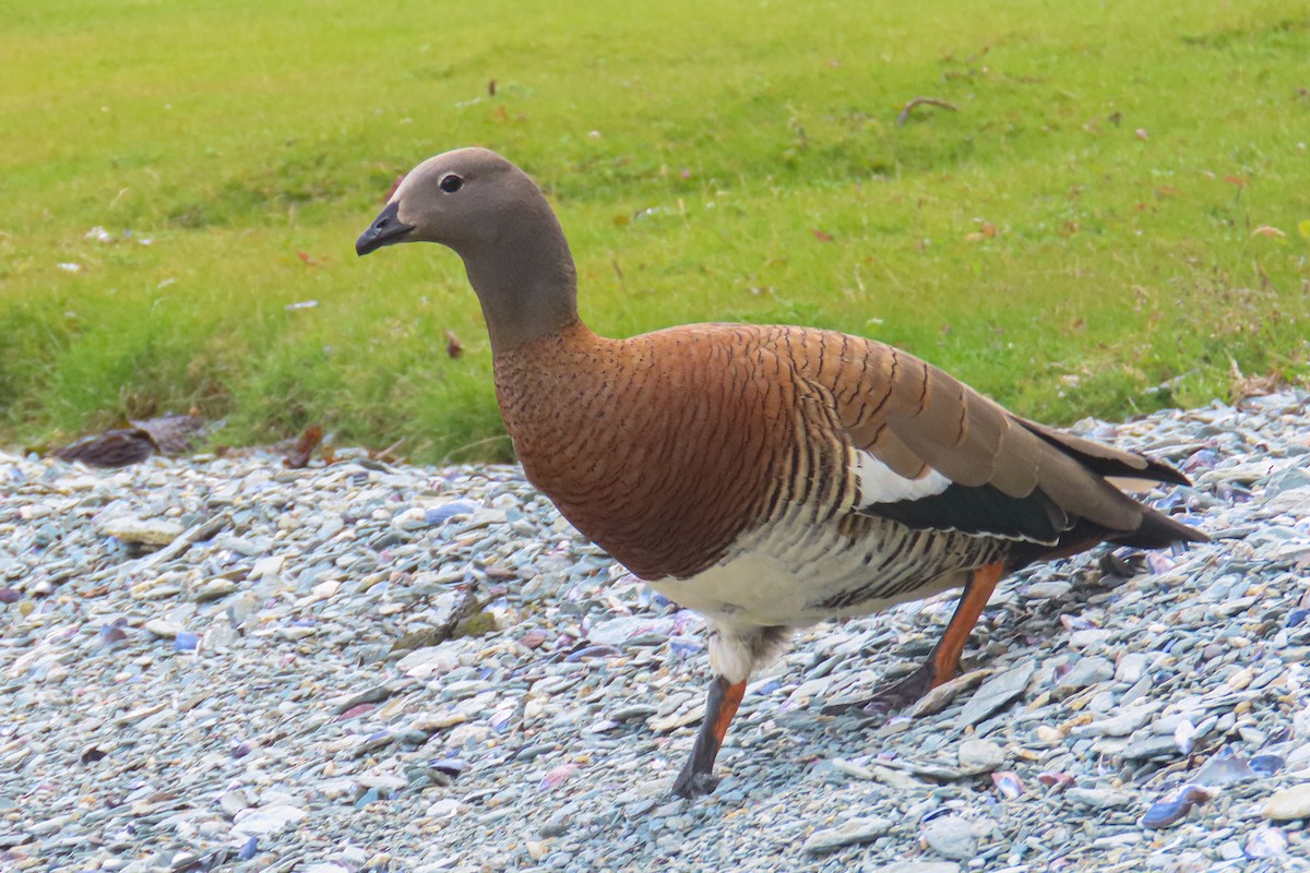
[(891, 346), (795, 326), (592, 332), (554, 211), (495, 152), (419, 164), (355, 250), (401, 242), (462, 259), (527, 478), (705, 616), (713, 678), (679, 796), (714, 791), (747, 679), (795, 628), (963, 589), (924, 664), (861, 702), (886, 711), (958, 673), (1006, 575), (1103, 542), (1207, 539), (1125, 492), (1187, 484), (1176, 470), (1022, 419)]

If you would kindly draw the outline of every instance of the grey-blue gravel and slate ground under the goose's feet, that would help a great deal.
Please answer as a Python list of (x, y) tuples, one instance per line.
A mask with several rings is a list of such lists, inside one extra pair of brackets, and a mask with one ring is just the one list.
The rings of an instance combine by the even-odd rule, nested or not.
[(1310, 395), (1079, 431), (1214, 542), (798, 633), (671, 797), (700, 619), (515, 467), (0, 453), (0, 869), (1310, 870)]

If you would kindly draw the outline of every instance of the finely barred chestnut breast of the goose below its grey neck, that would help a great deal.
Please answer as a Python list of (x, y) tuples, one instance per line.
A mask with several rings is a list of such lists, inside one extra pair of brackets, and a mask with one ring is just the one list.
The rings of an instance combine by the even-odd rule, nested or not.
[(782, 499), (798, 387), (762, 330), (626, 340), (580, 323), (495, 360), (528, 479), (642, 579), (713, 565)]

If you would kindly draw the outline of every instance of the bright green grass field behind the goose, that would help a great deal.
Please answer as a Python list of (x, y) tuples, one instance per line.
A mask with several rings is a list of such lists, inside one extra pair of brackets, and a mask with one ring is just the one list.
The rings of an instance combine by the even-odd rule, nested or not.
[(834, 327), (1052, 421), (1305, 376), (1310, 3), (872, 5), (0, 0), (0, 444), (196, 406), (506, 457), (458, 260), (352, 251), (468, 144), (601, 332)]

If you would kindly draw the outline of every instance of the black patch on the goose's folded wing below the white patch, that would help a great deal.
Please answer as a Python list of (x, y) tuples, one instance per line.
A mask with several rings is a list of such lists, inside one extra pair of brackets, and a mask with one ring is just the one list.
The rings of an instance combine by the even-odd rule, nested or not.
[(917, 530), (959, 530), (965, 534), (1026, 539), (1055, 544), (1074, 520), (1040, 490), (1011, 497), (993, 486), (951, 484), (942, 493), (918, 500), (875, 503), (865, 516), (891, 518)]

